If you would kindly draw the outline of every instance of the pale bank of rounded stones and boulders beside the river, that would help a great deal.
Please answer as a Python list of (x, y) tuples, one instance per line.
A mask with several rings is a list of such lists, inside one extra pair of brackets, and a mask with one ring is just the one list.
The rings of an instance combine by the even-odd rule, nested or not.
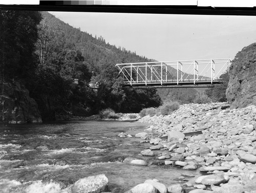
[[(169, 187), (149, 180), (145, 183), (153, 187), (139, 184), (129, 192), (256, 192), (256, 106), (184, 104), (172, 115), (145, 116), (139, 121), (152, 124), (135, 136), (152, 144), (141, 152), (145, 159), (151, 156), (165, 165), (199, 169), (202, 176)], [(133, 158), (124, 161), (147, 165)]]

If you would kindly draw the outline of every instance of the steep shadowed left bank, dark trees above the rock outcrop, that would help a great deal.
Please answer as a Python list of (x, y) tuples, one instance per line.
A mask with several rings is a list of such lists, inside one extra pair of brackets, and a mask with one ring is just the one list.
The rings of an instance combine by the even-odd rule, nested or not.
[(40, 122), (29, 88), (36, 71), (37, 11), (0, 10), (0, 115), (3, 122)]

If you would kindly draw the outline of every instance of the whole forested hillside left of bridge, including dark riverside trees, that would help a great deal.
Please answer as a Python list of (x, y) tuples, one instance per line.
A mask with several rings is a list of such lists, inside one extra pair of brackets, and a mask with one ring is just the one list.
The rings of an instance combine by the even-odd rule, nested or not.
[[(88, 116), (106, 108), (139, 112), (161, 103), (155, 89), (123, 90), (115, 67), (151, 60), (81, 32), (48, 12), (1, 10), (1, 18), (3, 88), (8, 81), (25, 84), (43, 120)], [(100, 83), (98, 91), (89, 88), (90, 81)]]

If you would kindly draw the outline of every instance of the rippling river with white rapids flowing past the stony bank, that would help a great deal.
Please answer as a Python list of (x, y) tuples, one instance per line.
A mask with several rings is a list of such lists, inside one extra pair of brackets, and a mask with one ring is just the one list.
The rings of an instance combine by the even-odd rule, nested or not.
[(199, 176), (172, 166), (137, 166), (126, 157), (150, 161), (139, 153), (149, 147), (134, 136), (147, 124), (73, 120), (44, 124), (0, 125), (1, 192), (62, 193), (75, 181), (105, 174), (109, 190), (123, 192), (147, 179), (166, 186), (184, 183), (181, 175)]

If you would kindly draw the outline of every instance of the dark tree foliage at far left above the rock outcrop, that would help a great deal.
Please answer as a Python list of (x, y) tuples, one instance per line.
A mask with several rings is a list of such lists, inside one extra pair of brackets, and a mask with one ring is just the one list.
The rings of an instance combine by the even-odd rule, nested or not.
[(0, 63), (2, 78), (29, 82), (36, 69), (37, 11), (0, 10)]

